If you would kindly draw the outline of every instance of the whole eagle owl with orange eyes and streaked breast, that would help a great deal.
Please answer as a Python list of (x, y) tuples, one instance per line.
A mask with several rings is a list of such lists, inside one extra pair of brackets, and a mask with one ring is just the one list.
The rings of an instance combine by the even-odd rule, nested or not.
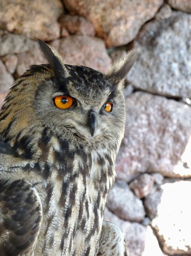
[(48, 64), (14, 82), (0, 113), (0, 255), (127, 255), (103, 213), (137, 53), (103, 74), (39, 45)]

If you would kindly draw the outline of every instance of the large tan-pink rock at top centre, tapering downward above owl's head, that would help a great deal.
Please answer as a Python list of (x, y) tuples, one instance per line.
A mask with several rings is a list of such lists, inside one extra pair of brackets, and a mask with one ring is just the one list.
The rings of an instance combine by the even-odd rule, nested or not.
[(152, 19), (163, 0), (63, 0), (68, 10), (86, 17), (108, 47), (131, 42), (141, 26)]

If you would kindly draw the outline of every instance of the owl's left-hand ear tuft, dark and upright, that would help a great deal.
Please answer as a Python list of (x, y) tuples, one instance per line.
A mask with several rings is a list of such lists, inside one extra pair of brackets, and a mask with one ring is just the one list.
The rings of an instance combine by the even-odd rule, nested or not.
[(55, 76), (59, 79), (69, 77), (68, 70), (64, 66), (60, 54), (52, 46), (44, 43), (42, 40), (38, 39), (38, 43), (44, 58), (51, 65)]

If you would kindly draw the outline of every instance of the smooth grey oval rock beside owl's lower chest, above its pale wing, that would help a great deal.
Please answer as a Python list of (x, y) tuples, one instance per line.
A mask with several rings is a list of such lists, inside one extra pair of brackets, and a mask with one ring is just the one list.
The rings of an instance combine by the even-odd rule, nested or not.
[(126, 188), (114, 185), (108, 195), (106, 205), (110, 211), (123, 220), (140, 222), (145, 216), (142, 201), (130, 191), (128, 185)]

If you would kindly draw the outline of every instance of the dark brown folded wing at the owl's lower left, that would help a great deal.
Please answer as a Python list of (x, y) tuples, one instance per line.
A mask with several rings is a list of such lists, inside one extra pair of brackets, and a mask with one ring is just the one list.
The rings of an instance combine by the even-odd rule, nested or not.
[(31, 255), (41, 219), (41, 200), (29, 182), (24, 179), (0, 180), (1, 256)]

